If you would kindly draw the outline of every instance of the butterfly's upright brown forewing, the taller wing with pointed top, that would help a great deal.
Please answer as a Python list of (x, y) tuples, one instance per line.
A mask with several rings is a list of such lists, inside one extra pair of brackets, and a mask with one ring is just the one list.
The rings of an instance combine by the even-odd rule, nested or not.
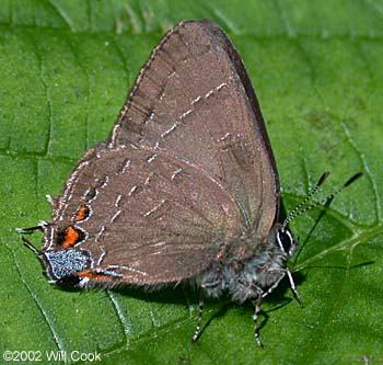
[(153, 50), (109, 137), (111, 147), (129, 142), (202, 168), (235, 199), (244, 227), (269, 232), (274, 156), (241, 57), (214, 23), (183, 22)]

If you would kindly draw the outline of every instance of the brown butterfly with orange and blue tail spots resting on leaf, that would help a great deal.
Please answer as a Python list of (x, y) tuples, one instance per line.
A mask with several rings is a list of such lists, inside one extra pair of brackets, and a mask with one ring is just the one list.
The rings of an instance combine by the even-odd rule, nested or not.
[[(323, 179), (324, 180), (324, 179)], [(321, 182), (322, 184), (322, 182)], [(89, 149), (40, 229), (24, 237), (51, 283), (81, 288), (188, 282), (204, 297), (263, 299), (298, 241), (278, 224), (280, 186), (243, 61), (211, 21), (172, 28), (141, 69), (108, 139)], [(299, 299), (300, 300), (300, 299)], [(260, 345), (258, 330), (255, 340)]]

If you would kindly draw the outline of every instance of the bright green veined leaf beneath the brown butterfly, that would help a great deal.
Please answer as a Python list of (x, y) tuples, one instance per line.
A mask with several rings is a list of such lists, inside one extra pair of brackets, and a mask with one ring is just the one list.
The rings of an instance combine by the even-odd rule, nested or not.
[[(293, 221), (303, 249), (291, 269), (304, 308), (285, 282), (265, 300), (264, 351), (249, 304), (209, 300), (192, 345), (198, 293), (56, 288), (14, 230), (50, 219), (45, 195), (59, 194), (82, 153), (108, 136), (151, 48), (178, 21), (202, 18), (244, 58), (287, 212), (324, 171), (333, 174), (322, 197), (364, 173), (327, 209)], [(1, 1), (2, 353), (55, 364), (47, 356), (59, 350), (68, 363), (73, 351), (96, 352), (103, 364), (381, 362), (382, 20), (378, 0)], [(40, 246), (40, 235), (32, 239)]]

